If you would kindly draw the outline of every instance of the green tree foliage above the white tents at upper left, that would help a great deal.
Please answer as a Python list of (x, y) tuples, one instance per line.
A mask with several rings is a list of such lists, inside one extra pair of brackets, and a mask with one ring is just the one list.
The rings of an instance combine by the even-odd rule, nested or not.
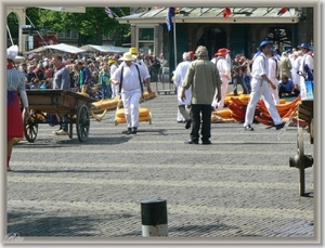
[[(130, 14), (130, 8), (110, 8), (117, 16), (122, 12)], [(76, 30), (79, 32), (79, 45), (92, 43), (102, 44), (103, 35), (114, 34), (115, 38), (123, 39), (123, 35), (130, 34), (130, 25), (119, 24), (116, 17), (109, 18), (104, 6), (86, 8), (86, 13), (66, 13), (37, 8), (29, 8), (27, 16), (38, 28), (46, 28), (56, 32)], [(29, 24), (28, 19), (26, 24)]]

